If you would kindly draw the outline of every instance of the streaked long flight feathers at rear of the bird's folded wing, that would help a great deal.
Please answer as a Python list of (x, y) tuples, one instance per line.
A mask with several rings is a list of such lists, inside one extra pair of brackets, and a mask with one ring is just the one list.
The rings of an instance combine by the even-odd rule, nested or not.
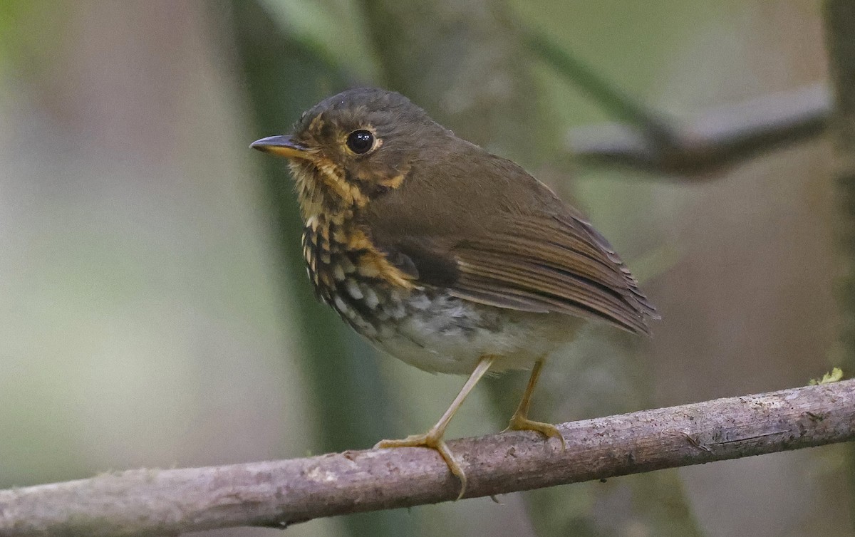
[(646, 317), (655, 310), (584, 221), (519, 224), (517, 233), (452, 248), (460, 272), (452, 294), (501, 307), (596, 316), (649, 333)]

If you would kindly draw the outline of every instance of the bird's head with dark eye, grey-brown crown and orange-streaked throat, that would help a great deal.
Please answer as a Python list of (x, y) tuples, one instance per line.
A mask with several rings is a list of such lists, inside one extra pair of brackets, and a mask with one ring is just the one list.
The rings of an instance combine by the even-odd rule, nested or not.
[(348, 90), (304, 112), (293, 133), (251, 147), (289, 159), (304, 217), (363, 207), (400, 187), (432, 140), (449, 134), (393, 91)]

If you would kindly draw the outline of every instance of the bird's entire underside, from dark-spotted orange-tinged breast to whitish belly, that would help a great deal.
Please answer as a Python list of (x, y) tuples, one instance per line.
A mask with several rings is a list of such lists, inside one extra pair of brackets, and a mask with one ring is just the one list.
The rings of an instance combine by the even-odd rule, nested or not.
[(382, 274), (370, 251), (331, 241), (335, 230), (323, 230), (307, 227), (304, 234), (318, 298), (380, 350), (419, 369), (469, 375), (487, 354), (497, 357), (493, 370), (526, 369), (573, 339), (581, 325), (575, 317), (506, 310), (432, 286), (401, 285)]

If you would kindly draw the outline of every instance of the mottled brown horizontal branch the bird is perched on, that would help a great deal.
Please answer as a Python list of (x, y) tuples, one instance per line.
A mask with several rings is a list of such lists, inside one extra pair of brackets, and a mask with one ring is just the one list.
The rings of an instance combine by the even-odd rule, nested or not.
[[(468, 497), (605, 479), (855, 440), (855, 380), (450, 442)], [(0, 534), (150, 535), (286, 528), (321, 516), (454, 499), (459, 483), (421, 448), (345, 451), (229, 466), (129, 470), (0, 491)]]

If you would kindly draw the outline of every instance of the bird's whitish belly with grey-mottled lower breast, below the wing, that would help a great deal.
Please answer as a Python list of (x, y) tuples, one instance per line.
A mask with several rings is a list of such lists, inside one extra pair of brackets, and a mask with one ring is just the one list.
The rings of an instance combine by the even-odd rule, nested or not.
[(581, 320), (504, 310), (433, 288), (378, 289), (345, 279), (326, 300), (374, 346), (419, 369), (469, 375), (479, 358), (493, 370), (528, 369), (575, 336)]

